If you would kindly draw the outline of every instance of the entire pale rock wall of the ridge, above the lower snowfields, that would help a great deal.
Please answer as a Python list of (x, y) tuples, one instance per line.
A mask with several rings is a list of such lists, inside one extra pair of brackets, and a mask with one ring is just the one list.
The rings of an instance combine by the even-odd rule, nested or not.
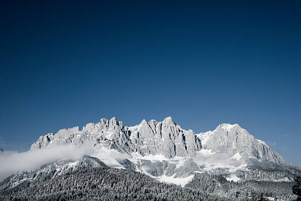
[(143, 120), (136, 126), (123, 126), (113, 117), (110, 121), (101, 119), (79, 127), (61, 129), (49, 133), (31, 145), (30, 149), (47, 148), (59, 144), (91, 144), (95, 148), (106, 147), (120, 152), (137, 152), (145, 155), (164, 155), (167, 158), (190, 157), (202, 149), (212, 152), (226, 152), (233, 157), (267, 159), (285, 164), (283, 158), (263, 141), (255, 139), (238, 124), (221, 124), (213, 131), (195, 134), (175, 124), (171, 117), (162, 122)]

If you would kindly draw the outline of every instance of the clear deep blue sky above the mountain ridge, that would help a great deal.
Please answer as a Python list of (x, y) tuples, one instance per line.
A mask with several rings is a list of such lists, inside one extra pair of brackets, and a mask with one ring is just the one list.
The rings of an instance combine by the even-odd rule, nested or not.
[(298, 1), (1, 2), (0, 146), (115, 116), (238, 123), (301, 165)]

